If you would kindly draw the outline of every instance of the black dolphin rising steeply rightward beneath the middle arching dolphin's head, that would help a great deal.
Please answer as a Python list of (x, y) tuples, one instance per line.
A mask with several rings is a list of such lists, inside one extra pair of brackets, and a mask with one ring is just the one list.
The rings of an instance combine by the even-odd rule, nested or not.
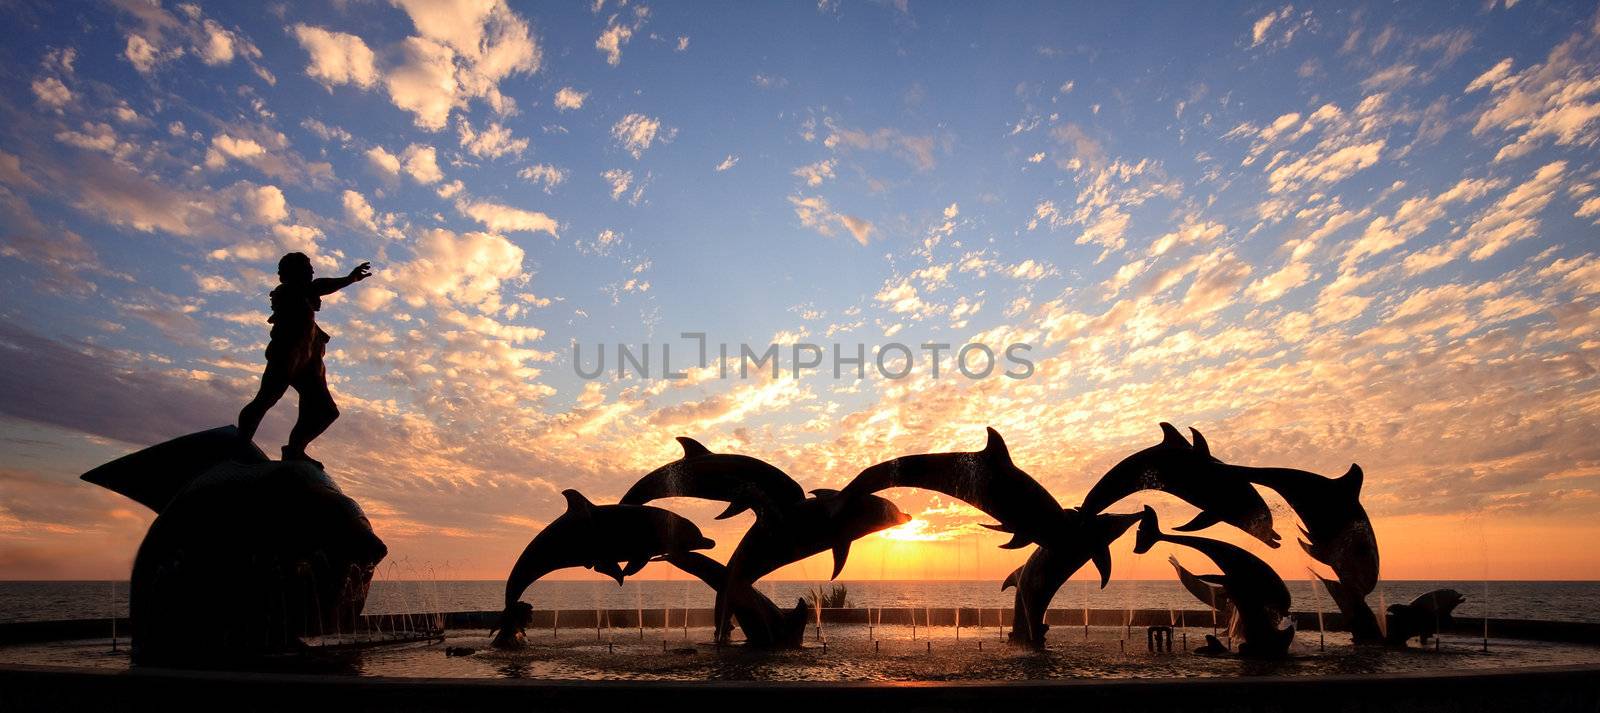
[(1090, 560), (1101, 572), (1101, 588), (1110, 580), (1110, 550), (1123, 532), (1138, 523), (1141, 515), (1082, 515), (1067, 510), (1064, 521), (1072, 532), (1056, 532), (1051, 545), (1035, 547), (1027, 561), (1013, 571), (1000, 590), (1016, 587), (1016, 598), (1011, 607), (1011, 641), (1030, 646), (1045, 644), (1045, 612), (1050, 611), (1050, 599), (1056, 596), (1074, 572), (1083, 569)]

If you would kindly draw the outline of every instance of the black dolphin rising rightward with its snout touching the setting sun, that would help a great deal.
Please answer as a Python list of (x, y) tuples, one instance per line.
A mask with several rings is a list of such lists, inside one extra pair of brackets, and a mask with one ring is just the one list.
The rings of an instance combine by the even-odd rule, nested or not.
[(728, 556), (728, 585), (717, 592), (717, 638), (728, 635), (728, 593), (739, 585), (797, 563), (811, 555), (834, 552), (834, 574), (838, 577), (850, 558), (850, 544), (888, 528), (906, 524), (910, 515), (877, 496), (845, 496), (832, 489), (811, 491), (781, 520), (757, 520)]

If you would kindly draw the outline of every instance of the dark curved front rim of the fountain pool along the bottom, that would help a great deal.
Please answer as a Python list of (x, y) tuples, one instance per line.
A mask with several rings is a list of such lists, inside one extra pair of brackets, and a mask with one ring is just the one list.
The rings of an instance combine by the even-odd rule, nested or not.
[(1600, 711), (1600, 667), (1422, 675), (1014, 683), (733, 683), (341, 678), (0, 667), (0, 710), (338, 708), (582, 711)]

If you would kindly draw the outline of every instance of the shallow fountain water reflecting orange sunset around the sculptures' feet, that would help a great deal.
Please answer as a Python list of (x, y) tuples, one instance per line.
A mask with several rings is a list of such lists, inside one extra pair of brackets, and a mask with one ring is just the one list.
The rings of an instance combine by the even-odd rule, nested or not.
[[(752, 651), (734, 643), (710, 644), (709, 627), (688, 635), (677, 627), (646, 628), (645, 639), (616, 636), (595, 639), (590, 630), (562, 630), (530, 636), (522, 651), (490, 649), (488, 631), (451, 631), (442, 643), (368, 649), (326, 657), (312, 665), (318, 673), (403, 678), (542, 678), (542, 679), (670, 679), (670, 681), (1016, 681), (1070, 678), (1176, 678), (1176, 676), (1322, 676), (1344, 673), (1406, 673), (1440, 670), (1490, 670), (1541, 665), (1600, 663), (1600, 647), (1542, 641), (1491, 639), (1483, 652), (1474, 636), (1446, 635), (1435, 651), (1374, 649), (1350, 646), (1349, 635), (1330, 631), (1318, 651), (1318, 633), (1301, 631), (1291, 657), (1280, 662), (1203, 657), (1182, 651), (1203, 643), (1210, 628), (1174, 631), (1173, 654), (1144, 649), (1142, 635), (1123, 651), (1123, 627), (1091, 627), (1088, 641), (1074, 635), (1053, 639), (1043, 651), (1005, 646), (998, 638), (955, 638), (954, 627), (878, 625), (869, 638), (866, 625), (829, 623), (827, 647), (808, 643), (800, 651)], [(931, 646), (930, 646), (931, 644)], [(1138, 644), (1138, 646), (1134, 646)], [(474, 649), (470, 655), (446, 655), (446, 647)], [(109, 639), (61, 641), (0, 647), (0, 663), (58, 665), (77, 668), (128, 667), (125, 654), (112, 654)]]

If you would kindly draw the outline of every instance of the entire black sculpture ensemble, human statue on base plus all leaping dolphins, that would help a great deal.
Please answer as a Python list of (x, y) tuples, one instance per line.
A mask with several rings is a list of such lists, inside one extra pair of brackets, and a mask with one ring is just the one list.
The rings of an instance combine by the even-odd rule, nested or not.
[[(259, 393), (240, 412), (240, 425), (176, 438), (83, 475), (158, 513), (133, 568), (130, 607), (138, 662), (250, 659), (296, 651), (306, 636), (349, 631), (373, 571), (387, 553), (360, 507), (306, 454), (306, 444), (338, 417), (322, 361), (328, 336), (317, 326), (315, 312), (322, 296), (366, 278), (368, 265), (342, 278), (315, 280), (310, 261), (291, 253), (278, 264), (278, 275), (267, 368)], [(301, 395), (301, 416), (283, 460), (270, 460), (251, 435), (290, 387)], [(1378, 585), (1378, 540), (1360, 504), (1360, 467), (1323, 478), (1294, 468), (1234, 465), (1211, 456), (1198, 430), (1190, 428), (1190, 441), (1171, 424), (1160, 427), (1162, 443), (1114, 465), (1074, 508), (1062, 508), (1018, 467), (994, 428), (981, 451), (901, 456), (862, 470), (843, 489), (813, 489), (810, 496), (771, 464), (678, 438), (683, 457), (640, 478), (619, 504), (597, 505), (578, 491), (563, 491), (566, 512), (528, 544), (506, 580), (494, 644), (514, 647), (523, 641), (533, 607), (522, 595), (546, 574), (587, 568), (621, 585), (646, 563), (664, 561), (715, 590), (718, 643), (730, 639), (738, 622), (749, 646), (800, 646), (806, 601), (779, 609), (755, 582), (822, 552), (832, 552), (832, 577), (838, 577), (854, 540), (910, 521), (877, 496), (890, 488), (960, 499), (997, 521), (987, 528), (1011, 536), (1000, 547), (1035, 547), (1002, 584), (1016, 588), (1011, 638), (1032, 646), (1045, 643), (1045, 614), (1056, 592), (1088, 563), (1106, 587), (1110, 544), (1138, 524), (1136, 553), (1166, 542), (1192, 548), (1221, 569), (1195, 576), (1170, 558), (1184, 587), (1230, 622), (1238, 654), (1286, 654), (1294, 638), (1290, 592), (1267, 563), (1222, 540), (1163, 532), (1150, 507), (1139, 513), (1104, 512), (1147, 489), (1198, 508), (1174, 532), (1229, 524), (1274, 548), (1278, 534), (1256, 486), (1278, 492), (1302, 523), (1301, 547), (1333, 569), (1333, 579), (1318, 579), (1357, 644), (1405, 646), (1413, 636), (1426, 643), (1464, 599), (1438, 590), (1390, 606), (1386, 631), (1366, 604)], [(694, 523), (648, 505), (666, 497), (726, 502), (717, 520), (750, 510), (755, 524), (723, 564), (698, 552), (714, 542)], [(1202, 651), (1227, 649), (1208, 636)]]

